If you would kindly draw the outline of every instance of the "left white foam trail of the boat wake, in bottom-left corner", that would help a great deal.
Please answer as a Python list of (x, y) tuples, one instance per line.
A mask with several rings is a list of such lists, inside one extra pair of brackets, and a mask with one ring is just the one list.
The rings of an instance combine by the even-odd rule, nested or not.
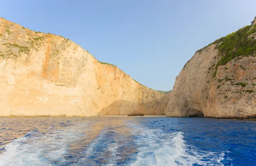
[(66, 163), (63, 156), (67, 146), (82, 136), (81, 133), (71, 132), (72, 127), (65, 130), (49, 129), (46, 133), (32, 130), (13, 140), (6, 144), (4, 152), (0, 154), (0, 166), (50, 166)]

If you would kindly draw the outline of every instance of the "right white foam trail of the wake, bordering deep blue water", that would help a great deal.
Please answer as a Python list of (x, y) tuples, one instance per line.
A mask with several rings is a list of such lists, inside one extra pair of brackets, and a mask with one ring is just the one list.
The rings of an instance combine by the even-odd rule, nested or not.
[(136, 161), (131, 166), (223, 166), (224, 153), (204, 152), (186, 144), (182, 132), (166, 133), (162, 129), (148, 129), (140, 124), (130, 125), (137, 135), (139, 147)]

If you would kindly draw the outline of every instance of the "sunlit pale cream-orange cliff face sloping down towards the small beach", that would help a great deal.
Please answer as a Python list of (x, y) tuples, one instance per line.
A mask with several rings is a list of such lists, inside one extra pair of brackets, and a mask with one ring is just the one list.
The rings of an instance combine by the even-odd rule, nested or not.
[(162, 98), (68, 39), (0, 18), (0, 117), (158, 115)]

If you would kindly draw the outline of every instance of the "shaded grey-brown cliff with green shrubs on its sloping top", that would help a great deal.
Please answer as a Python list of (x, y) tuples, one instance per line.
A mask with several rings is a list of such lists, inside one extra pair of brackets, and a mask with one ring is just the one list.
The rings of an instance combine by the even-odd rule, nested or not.
[(256, 118), (256, 19), (198, 50), (176, 77), (167, 116)]

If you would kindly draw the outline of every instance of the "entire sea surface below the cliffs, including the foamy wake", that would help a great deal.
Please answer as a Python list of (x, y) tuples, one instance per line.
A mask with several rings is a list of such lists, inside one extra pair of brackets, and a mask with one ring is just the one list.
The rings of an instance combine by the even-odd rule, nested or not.
[(0, 118), (0, 166), (256, 166), (256, 121)]

